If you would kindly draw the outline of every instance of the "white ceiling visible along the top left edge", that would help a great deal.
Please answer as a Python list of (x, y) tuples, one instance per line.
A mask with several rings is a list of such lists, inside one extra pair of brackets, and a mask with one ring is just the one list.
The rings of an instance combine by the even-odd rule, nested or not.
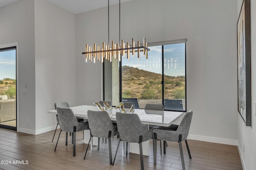
[[(0, 0), (0, 7), (11, 4), (18, 0)], [(47, 0), (52, 2), (73, 14), (79, 14), (81, 12), (86, 12), (90, 10), (95, 10), (98, 8), (103, 8), (108, 6), (108, 0)], [(120, 0), (122, 2), (127, 2), (130, 0)], [(110, 0), (110, 5), (118, 4), (119, 0)]]

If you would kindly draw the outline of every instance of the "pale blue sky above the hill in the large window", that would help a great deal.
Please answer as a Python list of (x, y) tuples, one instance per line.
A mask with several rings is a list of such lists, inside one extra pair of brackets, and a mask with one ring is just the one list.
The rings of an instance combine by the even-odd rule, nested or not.
[[(148, 59), (140, 53), (140, 60), (130, 55), (122, 59), (122, 66), (131, 66), (142, 70), (162, 74), (162, 46), (149, 47)], [(185, 76), (185, 43), (164, 45), (164, 74), (168, 76)]]

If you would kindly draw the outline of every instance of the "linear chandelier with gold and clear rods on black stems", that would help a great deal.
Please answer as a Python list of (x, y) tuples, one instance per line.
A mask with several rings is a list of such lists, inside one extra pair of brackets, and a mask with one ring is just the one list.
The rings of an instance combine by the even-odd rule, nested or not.
[[(119, 0), (119, 43), (120, 43), (120, 0)], [(109, 0), (108, 0), (108, 45), (105, 46), (105, 43), (102, 43), (102, 48), (100, 46), (96, 47), (96, 43), (94, 43), (94, 50), (92, 51), (92, 47), (88, 47), (88, 44), (85, 46), (85, 52), (82, 54), (85, 55), (85, 61), (95, 61), (98, 60), (102, 61), (104, 63), (104, 58), (110, 62), (112, 62), (112, 57), (114, 59), (118, 59), (121, 61), (121, 57), (125, 57), (125, 54), (127, 56), (127, 59), (130, 61), (130, 53), (132, 53), (132, 56), (135, 57), (135, 53), (137, 53), (138, 60), (140, 60), (140, 52), (143, 51), (143, 56), (146, 56), (146, 59), (148, 59), (148, 51), (150, 49), (148, 48), (148, 44), (146, 43), (146, 38), (143, 39), (143, 45), (140, 45), (140, 41), (137, 43), (137, 47), (135, 47), (135, 41), (132, 39), (132, 44), (129, 45), (129, 43), (124, 43), (124, 40), (122, 40), (122, 43), (120, 45), (114, 44), (114, 41), (112, 41), (112, 47), (109, 45)]]

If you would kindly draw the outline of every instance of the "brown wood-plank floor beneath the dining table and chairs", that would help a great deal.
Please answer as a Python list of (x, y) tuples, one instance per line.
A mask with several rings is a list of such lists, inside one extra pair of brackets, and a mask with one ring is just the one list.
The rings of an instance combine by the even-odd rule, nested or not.
[[(65, 145), (65, 133), (60, 135), (56, 152), (54, 148), (59, 130), (52, 142), (54, 131), (40, 135), (17, 133), (0, 128), (0, 162), (4, 170), (138, 170), (140, 156), (128, 154), (122, 156), (122, 144), (118, 149), (115, 165), (109, 165), (108, 144), (100, 146), (100, 150), (89, 150), (86, 159), (84, 153), (87, 144), (83, 143), (81, 132), (76, 135), (76, 157), (73, 157), (71, 137)], [(118, 139), (112, 138), (112, 154), (116, 152)], [(144, 156), (144, 168), (147, 170), (178, 170), (182, 169), (178, 143), (167, 142), (166, 154), (160, 154), (158, 141), (157, 164), (153, 162), (152, 140), (150, 140), (150, 156)], [(188, 140), (192, 159), (189, 159), (185, 142), (183, 143), (186, 170), (242, 170), (237, 146)], [(90, 148), (90, 147), (89, 147)], [(21, 160), (16, 162), (16, 160)], [(22, 162), (23, 161), (23, 162)], [(28, 161), (28, 164), (26, 164)], [(16, 164), (15, 164), (16, 163)]]

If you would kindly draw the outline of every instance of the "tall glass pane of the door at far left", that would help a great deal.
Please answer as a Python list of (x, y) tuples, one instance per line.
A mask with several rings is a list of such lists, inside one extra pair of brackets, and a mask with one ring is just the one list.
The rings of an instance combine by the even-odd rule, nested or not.
[(0, 125), (16, 127), (16, 49), (0, 50)]

